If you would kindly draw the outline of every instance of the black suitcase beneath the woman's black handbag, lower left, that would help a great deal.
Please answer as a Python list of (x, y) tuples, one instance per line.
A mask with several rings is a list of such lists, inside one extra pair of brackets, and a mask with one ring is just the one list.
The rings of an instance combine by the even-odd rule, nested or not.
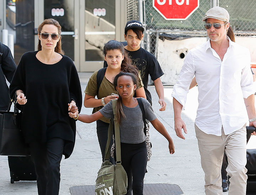
[(36, 171), (31, 156), (8, 156), (11, 183), (36, 180)]

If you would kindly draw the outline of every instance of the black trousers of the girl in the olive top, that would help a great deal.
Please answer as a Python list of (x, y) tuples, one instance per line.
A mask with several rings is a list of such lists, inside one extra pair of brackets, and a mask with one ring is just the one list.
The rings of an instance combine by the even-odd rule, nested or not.
[[(104, 161), (105, 157), (105, 149), (107, 145), (107, 138), (108, 138), (108, 126), (109, 123), (105, 123), (101, 120), (96, 121), (97, 124), (97, 136), (98, 136), (98, 142), (100, 144), (101, 149), (101, 155), (102, 155), (102, 162)], [(111, 139), (110, 145), (112, 146), (113, 139)], [(114, 158), (110, 157), (110, 162), (114, 165), (116, 162), (114, 161)]]

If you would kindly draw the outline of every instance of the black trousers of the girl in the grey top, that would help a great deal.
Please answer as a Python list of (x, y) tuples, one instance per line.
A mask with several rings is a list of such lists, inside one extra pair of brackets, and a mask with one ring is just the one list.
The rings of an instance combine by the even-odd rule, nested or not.
[(121, 161), (128, 179), (126, 195), (143, 195), (147, 156), (146, 141), (139, 144), (121, 143)]

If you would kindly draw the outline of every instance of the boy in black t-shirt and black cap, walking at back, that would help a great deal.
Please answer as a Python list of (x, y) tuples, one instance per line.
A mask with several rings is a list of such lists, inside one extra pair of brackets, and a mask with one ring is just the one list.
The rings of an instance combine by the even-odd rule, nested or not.
[[(152, 105), (151, 94), (148, 90), (148, 78), (150, 74), (151, 79), (154, 81), (156, 93), (159, 97), (158, 102), (161, 105), (159, 111), (165, 111), (166, 103), (164, 100), (164, 87), (160, 79), (164, 73), (162, 72), (156, 57), (140, 47), (140, 43), (144, 37), (143, 32), (144, 28), (141, 22), (136, 20), (128, 21), (124, 28), (124, 39), (127, 42), (121, 43), (124, 45), (124, 49), (132, 60), (132, 64), (137, 66), (140, 71), (147, 100)], [(107, 67), (106, 61), (104, 61), (104, 67)]]

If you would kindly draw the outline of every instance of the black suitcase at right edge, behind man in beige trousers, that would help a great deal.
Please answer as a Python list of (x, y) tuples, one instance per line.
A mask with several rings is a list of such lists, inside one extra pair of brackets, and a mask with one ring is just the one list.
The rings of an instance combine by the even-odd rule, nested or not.
[[(256, 131), (255, 127), (246, 126), (247, 131), (247, 142), (251, 137), (251, 133)], [(247, 186), (246, 186), (246, 195), (255, 195), (256, 194), (256, 149), (247, 149)]]

